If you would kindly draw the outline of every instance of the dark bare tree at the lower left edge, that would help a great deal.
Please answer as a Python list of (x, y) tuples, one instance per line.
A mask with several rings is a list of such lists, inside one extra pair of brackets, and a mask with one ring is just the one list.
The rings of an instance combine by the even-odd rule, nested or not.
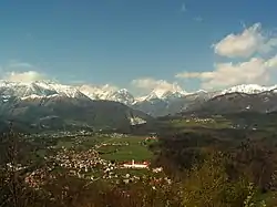
[(33, 190), (24, 182), (31, 167), (30, 145), (23, 136), (13, 132), (0, 136), (0, 204), (2, 206), (27, 207), (33, 204)]

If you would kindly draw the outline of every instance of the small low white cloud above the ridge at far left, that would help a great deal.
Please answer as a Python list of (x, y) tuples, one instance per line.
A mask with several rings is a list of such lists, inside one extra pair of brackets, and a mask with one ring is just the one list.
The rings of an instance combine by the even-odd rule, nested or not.
[(45, 80), (47, 75), (39, 73), (37, 71), (8, 72), (3, 75), (3, 79), (13, 82), (33, 82), (33, 81)]

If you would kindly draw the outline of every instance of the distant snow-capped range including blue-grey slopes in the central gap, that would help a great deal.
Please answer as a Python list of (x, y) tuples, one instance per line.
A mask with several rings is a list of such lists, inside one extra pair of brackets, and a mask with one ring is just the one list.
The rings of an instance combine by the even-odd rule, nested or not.
[(0, 81), (1, 103), (7, 103), (9, 99), (17, 97), (21, 100), (40, 100), (63, 97), (86, 99), (86, 100), (106, 100), (120, 102), (135, 110), (147, 114), (160, 116), (177, 113), (186, 110), (191, 105), (202, 104), (218, 95), (230, 93), (259, 94), (277, 92), (277, 85), (260, 86), (257, 84), (243, 84), (222, 91), (207, 92), (199, 90), (188, 93), (179, 87), (154, 89), (151, 93), (142, 97), (135, 97), (126, 89), (116, 89), (110, 85), (64, 85), (51, 81), (35, 81), (31, 83)]

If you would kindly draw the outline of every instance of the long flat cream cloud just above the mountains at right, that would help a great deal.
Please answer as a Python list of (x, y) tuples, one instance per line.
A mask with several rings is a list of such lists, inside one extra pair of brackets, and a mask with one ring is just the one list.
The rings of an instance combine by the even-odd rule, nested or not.
[(277, 70), (277, 55), (264, 60), (253, 58), (240, 63), (218, 63), (209, 72), (183, 72), (175, 76), (178, 79), (199, 79), (204, 89), (233, 86), (237, 84), (267, 84), (271, 73)]

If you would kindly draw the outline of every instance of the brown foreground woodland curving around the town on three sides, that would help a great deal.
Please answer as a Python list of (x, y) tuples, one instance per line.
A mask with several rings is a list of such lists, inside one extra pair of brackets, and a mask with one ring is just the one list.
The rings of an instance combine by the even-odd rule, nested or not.
[[(235, 133), (236, 134), (236, 133)], [(234, 134), (234, 135), (235, 135)], [(154, 165), (165, 175), (136, 182), (85, 180), (51, 169), (38, 186), (27, 184), (51, 161), (17, 133), (0, 137), (0, 206), (3, 207), (261, 207), (277, 206), (275, 141), (226, 132), (166, 131), (153, 145)], [(28, 167), (25, 167), (28, 166)], [(39, 177), (42, 178), (42, 177)]]

